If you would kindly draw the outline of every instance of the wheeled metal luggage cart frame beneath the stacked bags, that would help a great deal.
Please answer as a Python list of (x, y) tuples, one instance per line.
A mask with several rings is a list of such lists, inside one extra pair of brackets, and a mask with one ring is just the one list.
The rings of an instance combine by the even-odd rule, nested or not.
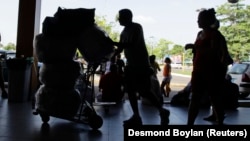
[(89, 64), (87, 69), (79, 76), (76, 83), (76, 89), (80, 93), (81, 103), (78, 112), (73, 117), (61, 116), (47, 110), (35, 109), (34, 115), (40, 115), (44, 123), (48, 123), (50, 116), (62, 118), (77, 123), (88, 124), (96, 130), (103, 125), (103, 119), (99, 116), (94, 107), (94, 74), (98, 64)]

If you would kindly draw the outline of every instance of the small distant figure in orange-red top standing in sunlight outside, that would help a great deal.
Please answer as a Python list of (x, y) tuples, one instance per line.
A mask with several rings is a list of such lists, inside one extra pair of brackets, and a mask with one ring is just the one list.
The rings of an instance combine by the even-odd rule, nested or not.
[(172, 79), (171, 59), (169, 57), (166, 57), (164, 62), (165, 62), (165, 65), (163, 67), (163, 80), (161, 82), (161, 91), (166, 97), (169, 97), (169, 93), (171, 91), (169, 85), (170, 85), (170, 81)]

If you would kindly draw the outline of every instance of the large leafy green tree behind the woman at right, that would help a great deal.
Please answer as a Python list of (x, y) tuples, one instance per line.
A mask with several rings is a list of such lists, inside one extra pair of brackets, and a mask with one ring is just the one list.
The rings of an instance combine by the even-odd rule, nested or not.
[(235, 60), (246, 60), (250, 52), (250, 6), (238, 3), (225, 3), (217, 7), (220, 31), (227, 40), (230, 54)]

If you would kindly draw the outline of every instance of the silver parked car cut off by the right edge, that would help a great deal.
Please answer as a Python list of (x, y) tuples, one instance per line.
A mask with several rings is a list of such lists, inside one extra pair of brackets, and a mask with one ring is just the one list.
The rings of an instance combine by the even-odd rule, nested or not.
[(248, 97), (250, 95), (250, 62), (233, 64), (227, 74), (232, 77), (232, 82), (238, 85), (239, 96)]

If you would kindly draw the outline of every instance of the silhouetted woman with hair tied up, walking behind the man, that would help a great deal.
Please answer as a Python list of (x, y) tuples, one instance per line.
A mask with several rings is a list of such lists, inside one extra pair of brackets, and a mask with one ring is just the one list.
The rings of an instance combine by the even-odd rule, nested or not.
[[(194, 44), (187, 44), (186, 49), (193, 49), (193, 72), (191, 77), (192, 97), (188, 111), (188, 125), (193, 125), (200, 108), (200, 100), (207, 93), (213, 106), (218, 124), (223, 124), (224, 109), (221, 105), (222, 90), (227, 66), (223, 59), (226, 45), (224, 36), (214, 28), (217, 19), (214, 9), (202, 10), (198, 15), (198, 32)], [(223, 45), (222, 45), (223, 44)]]

